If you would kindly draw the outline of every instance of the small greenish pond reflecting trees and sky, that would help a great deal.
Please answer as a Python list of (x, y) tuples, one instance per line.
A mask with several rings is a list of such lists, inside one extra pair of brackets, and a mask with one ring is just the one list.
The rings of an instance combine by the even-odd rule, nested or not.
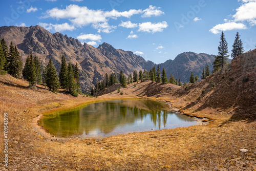
[(118, 134), (174, 129), (198, 124), (192, 118), (168, 111), (165, 102), (145, 99), (101, 101), (85, 108), (38, 122), (56, 137), (107, 137)]

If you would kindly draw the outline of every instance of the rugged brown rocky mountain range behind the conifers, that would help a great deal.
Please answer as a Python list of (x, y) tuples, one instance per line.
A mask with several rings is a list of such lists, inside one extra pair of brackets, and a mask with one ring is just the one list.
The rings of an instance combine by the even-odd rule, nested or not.
[[(8, 46), (11, 41), (17, 46), (24, 63), (32, 50), (32, 54), (40, 58), (43, 66), (51, 58), (57, 72), (60, 70), (61, 55), (65, 54), (67, 62), (74, 65), (78, 63), (83, 91), (89, 90), (93, 84), (102, 80), (105, 73), (118, 73), (122, 70), (127, 76), (134, 70), (149, 71), (153, 66), (157, 67), (152, 61), (146, 61), (131, 51), (115, 49), (106, 42), (94, 48), (86, 43), (82, 45), (79, 40), (67, 35), (58, 32), (52, 34), (40, 26), (0, 27), (0, 37), (5, 38)], [(175, 78), (188, 82), (190, 72), (201, 77), (202, 69), (206, 65), (211, 70), (214, 59), (214, 55), (185, 52), (174, 60), (167, 60), (159, 65), (161, 70), (165, 68), (167, 77), (173, 74)]]

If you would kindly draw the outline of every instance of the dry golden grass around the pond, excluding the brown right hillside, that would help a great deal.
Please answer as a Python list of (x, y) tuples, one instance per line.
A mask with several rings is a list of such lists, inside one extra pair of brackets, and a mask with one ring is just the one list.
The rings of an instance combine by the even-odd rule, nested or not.
[[(8, 76), (0, 76), (0, 119), (3, 120), (4, 112), (10, 118), (9, 170), (256, 169), (255, 122), (230, 121), (231, 113), (217, 109), (204, 108), (197, 111), (195, 106), (185, 109), (184, 106), (197, 97), (177, 98), (172, 94), (178, 88), (172, 85), (161, 89), (162, 92), (169, 91), (168, 94), (152, 97), (145, 95), (145, 89), (151, 83), (143, 82), (137, 84), (136, 88), (130, 84), (128, 88), (122, 89), (123, 95), (115, 91), (98, 98), (75, 98), (47, 90), (29, 90), (22, 80), (11, 80), (23, 83), (23, 87), (13, 89), (13, 86), (4, 84), (7, 81)], [(210, 122), (205, 126), (117, 135), (102, 140), (74, 138), (58, 141), (51, 141), (50, 136), (42, 136), (31, 124), (42, 113), (52, 114), (59, 110), (79, 108), (81, 104), (96, 100), (117, 98), (171, 101), (174, 107), (182, 109), (187, 115), (207, 117)], [(3, 127), (3, 122), (0, 126)], [(2, 142), (0, 147), (3, 149)], [(241, 153), (241, 148), (248, 149), (248, 152)], [(0, 157), (3, 157), (2, 150)], [(3, 163), (0, 169), (7, 170)]]

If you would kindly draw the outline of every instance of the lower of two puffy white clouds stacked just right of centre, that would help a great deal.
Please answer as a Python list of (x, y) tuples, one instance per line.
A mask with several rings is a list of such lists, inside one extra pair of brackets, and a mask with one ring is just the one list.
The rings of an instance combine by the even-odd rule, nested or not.
[(139, 30), (141, 32), (162, 32), (163, 29), (167, 28), (168, 24), (167, 22), (162, 22), (162, 23), (151, 23), (151, 22), (146, 22), (146, 23), (140, 23), (139, 24)]

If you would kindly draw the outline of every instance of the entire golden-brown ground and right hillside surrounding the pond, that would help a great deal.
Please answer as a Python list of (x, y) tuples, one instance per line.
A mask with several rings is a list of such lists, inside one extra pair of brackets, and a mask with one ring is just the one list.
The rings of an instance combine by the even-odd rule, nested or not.
[[(255, 170), (255, 58), (255, 50), (238, 56), (222, 72), (196, 84), (145, 81), (120, 89), (123, 95), (113, 88), (97, 98), (31, 90), (26, 81), (0, 76), (1, 127), (4, 113), (9, 117), (8, 170)], [(187, 115), (207, 117), (209, 124), (103, 140), (51, 139), (31, 125), (41, 113), (120, 98), (171, 101)], [(1, 150), (1, 160), (3, 155)], [(3, 164), (0, 170), (7, 170)]]

